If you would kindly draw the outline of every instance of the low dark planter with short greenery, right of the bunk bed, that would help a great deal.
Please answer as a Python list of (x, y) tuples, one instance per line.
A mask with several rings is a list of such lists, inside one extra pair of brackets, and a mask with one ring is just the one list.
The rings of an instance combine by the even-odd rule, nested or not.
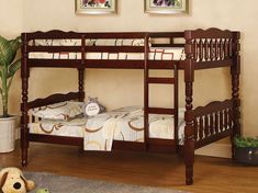
[(237, 162), (258, 166), (258, 137), (235, 137), (234, 144)]

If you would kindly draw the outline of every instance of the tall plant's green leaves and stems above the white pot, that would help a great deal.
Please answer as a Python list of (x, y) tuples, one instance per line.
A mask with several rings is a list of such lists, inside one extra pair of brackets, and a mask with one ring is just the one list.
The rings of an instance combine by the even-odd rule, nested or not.
[(21, 68), (21, 59), (15, 59), (16, 53), (21, 47), (21, 37), (5, 39), (0, 35), (0, 93), (2, 96), (2, 117), (9, 117), (8, 98), (12, 79), (15, 72)]

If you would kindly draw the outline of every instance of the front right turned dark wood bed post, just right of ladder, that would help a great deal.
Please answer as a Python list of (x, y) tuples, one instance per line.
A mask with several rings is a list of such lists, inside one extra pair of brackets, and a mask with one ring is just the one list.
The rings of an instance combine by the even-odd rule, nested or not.
[(184, 32), (186, 38), (186, 63), (184, 63), (184, 83), (186, 83), (186, 127), (184, 127), (184, 164), (186, 164), (186, 183), (193, 183), (193, 162), (194, 162), (194, 128), (190, 121), (189, 112), (192, 110), (192, 87), (194, 81), (193, 69), (193, 47), (191, 31)]

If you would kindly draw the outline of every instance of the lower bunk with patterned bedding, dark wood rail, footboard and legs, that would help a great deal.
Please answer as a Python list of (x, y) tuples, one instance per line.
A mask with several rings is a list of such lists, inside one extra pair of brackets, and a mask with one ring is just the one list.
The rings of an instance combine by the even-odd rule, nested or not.
[[(65, 102), (74, 98), (74, 94), (65, 95), (68, 98), (57, 94), (35, 100), (29, 103), (29, 109), (44, 110), (54, 102)], [(192, 184), (194, 149), (227, 136), (234, 137), (237, 128), (234, 122), (237, 112), (235, 106), (239, 106), (236, 104), (238, 102), (231, 99), (190, 111), (175, 110), (178, 122), (175, 122), (173, 115), (149, 114), (148, 128), (144, 127), (146, 114), (142, 107), (130, 107), (130, 111), (120, 109), (91, 118), (78, 118), (77, 111), (71, 111), (77, 117), (72, 121), (67, 121), (69, 116), (57, 111), (56, 116), (66, 120), (63, 122), (32, 116), (32, 123), (22, 127), (22, 164), (27, 164), (30, 141), (83, 146), (86, 150), (124, 149), (168, 154), (183, 151), (186, 183)]]

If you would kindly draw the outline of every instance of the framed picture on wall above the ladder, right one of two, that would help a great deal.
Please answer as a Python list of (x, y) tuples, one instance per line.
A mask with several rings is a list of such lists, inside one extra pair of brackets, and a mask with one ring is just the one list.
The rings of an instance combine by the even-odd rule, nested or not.
[(187, 13), (188, 0), (145, 0), (145, 12), (147, 13)]

